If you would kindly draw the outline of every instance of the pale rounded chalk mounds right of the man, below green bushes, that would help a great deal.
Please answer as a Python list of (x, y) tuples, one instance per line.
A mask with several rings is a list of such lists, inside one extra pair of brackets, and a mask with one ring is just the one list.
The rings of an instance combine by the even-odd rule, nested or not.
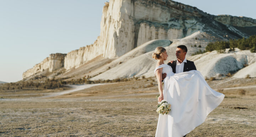
[[(212, 51), (204, 54), (198, 54), (190, 56), (188, 59), (194, 61), (197, 69), (205, 77), (219, 77), (219, 75), (226, 75), (228, 73), (235, 73), (234, 77), (236, 78), (245, 78), (248, 73), (251, 71), (242, 71), (249, 70), (254, 68), (253, 66), (256, 53), (251, 53), (250, 50), (239, 50), (236, 49), (235, 52), (228, 52), (219, 54), (217, 51)], [(256, 73), (252, 73), (253, 77), (256, 77)]]

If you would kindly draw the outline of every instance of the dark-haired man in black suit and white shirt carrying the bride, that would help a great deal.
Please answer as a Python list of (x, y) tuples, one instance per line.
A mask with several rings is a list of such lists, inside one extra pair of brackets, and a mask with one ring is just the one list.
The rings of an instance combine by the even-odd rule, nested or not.
[[(193, 61), (186, 59), (187, 47), (185, 45), (180, 45), (176, 48), (176, 57), (177, 60), (169, 61), (168, 65), (172, 67), (174, 73), (181, 73), (191, 70), (196, 70), (196, 66)], [(166, 73), (162, 74), (162, 79), (166, 77)], [(183, 137), (186, 137), (183, 136)]]

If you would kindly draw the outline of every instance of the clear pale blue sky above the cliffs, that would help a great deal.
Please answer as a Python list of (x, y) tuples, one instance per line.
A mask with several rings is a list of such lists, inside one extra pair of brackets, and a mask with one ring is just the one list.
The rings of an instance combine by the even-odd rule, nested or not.
[[(109, 0), (0, 0), (0, 81), (22, 73), (52, 53), (92, 44)], [(256, 19), (256, 0), (176, 0), (209, 14)]]

